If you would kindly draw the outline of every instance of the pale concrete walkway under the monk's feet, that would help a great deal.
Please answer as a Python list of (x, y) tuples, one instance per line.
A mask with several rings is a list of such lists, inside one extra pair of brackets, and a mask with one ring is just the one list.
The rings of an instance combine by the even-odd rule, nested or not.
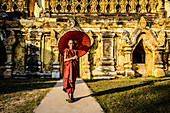
[(62, 90), (62, 80), (45, 96), (35, 113), (103, 113), (100, 105), (90, 95), (90, 91), (80, 78), (76, 81), (74, 103), (66, 101), (67, 94)]

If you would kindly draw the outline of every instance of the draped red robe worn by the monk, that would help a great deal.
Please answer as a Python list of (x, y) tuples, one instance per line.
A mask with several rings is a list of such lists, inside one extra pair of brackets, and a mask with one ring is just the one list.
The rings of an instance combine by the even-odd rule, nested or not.
[[(66, 59), (72, 58), (76, 55), (74, 50), (69, 48), (64, 49), (66, 53)], [(78, 62), (76, 59), (64, 62), (64, 74), (63, 74), (63, 91), (66, 93), (74, 93), (75, 82), (78, 72)]]

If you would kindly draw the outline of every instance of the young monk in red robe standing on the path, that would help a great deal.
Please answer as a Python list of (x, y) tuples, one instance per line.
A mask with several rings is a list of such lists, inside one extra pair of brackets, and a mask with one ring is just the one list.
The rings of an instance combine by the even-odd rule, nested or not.
[(77, 50), (73, 49), (74, 41), (72, 39), (68, 41), (68, 46), (69, 48), (64, 49), (63, 91), (67, 93), (66, 101), (71, 103), (75, 100), (73, 94), (78, 72), (78, 56)]

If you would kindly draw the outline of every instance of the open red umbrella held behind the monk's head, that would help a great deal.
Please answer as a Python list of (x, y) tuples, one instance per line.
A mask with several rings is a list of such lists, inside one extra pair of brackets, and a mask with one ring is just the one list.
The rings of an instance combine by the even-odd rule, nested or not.
[(81, 31), (69, 31), (64, 36), (61, 37), (59, 41), (59, 50), (61, 54), (64, 54), (64, 49), (68, 47), (68, 41), (73, 39), (76, 43), (75, 49), (78, 51), (78, 56), (81, 57), (90, 48), (90, 38)]

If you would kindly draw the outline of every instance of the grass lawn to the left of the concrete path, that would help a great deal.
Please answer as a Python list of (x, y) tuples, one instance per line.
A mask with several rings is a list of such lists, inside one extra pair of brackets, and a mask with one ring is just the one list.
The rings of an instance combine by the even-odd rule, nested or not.
[(53, 79), (0, 79), (0, 113), (32, 113), (56, 84)]

